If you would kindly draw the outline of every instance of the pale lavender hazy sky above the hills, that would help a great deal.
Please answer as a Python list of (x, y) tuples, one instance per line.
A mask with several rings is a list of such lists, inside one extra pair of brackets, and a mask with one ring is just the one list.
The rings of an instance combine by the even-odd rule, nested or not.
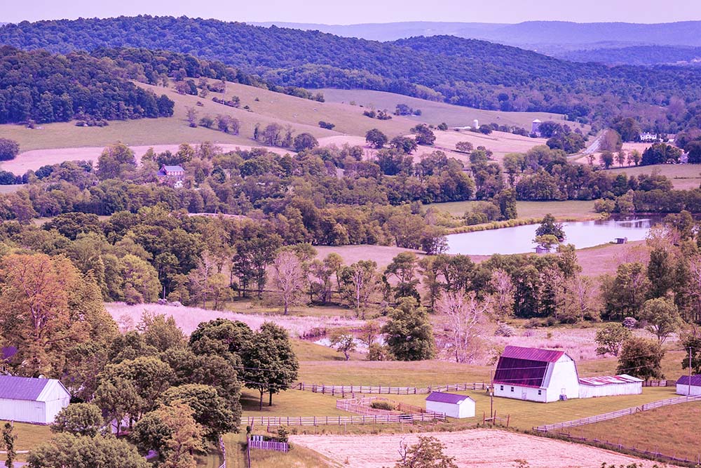
[(118, 15), (187, 15), (236, 21), (673, 22), (701, 20), (699, 0), (0, 0), (0, 22)]

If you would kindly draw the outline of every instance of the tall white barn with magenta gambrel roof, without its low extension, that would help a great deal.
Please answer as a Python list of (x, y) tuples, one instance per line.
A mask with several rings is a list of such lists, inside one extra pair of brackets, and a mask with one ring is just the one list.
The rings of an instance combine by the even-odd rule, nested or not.
[(579, 398), (577, 366), (564, 351), (507, 346), (494, 373), (494, 395), (541, 403)]

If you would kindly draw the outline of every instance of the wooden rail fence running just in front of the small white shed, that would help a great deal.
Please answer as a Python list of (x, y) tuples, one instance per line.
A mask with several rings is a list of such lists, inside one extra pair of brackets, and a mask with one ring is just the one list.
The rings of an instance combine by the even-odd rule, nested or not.
[(361, 416), (249, 416), (247, 424), (271, 426), (343, 426), (344, 424), (400, 424), (404, 422), (444, 421), (440, 413), (417, 415), (361, 415)]

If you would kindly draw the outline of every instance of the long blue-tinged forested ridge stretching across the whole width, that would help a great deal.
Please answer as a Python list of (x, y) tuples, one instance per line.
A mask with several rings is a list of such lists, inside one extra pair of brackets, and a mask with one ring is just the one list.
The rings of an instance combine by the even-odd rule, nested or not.
[[(381, 43), (237, 22), (139, 16), (22, 22), (0, 43), (67, 53), (103, 47), (167, 49), (222, 60), (280, 86), (367, 88), (458, 105), (547, 111), (606, 121), (629, 113), (676, 131), (701, 100), (701, 71), (566, 62), (452, 36)], [(674, 102), (673, 102), (674, 101)], [(658, 107), (674, 104), (673, 109)]]

